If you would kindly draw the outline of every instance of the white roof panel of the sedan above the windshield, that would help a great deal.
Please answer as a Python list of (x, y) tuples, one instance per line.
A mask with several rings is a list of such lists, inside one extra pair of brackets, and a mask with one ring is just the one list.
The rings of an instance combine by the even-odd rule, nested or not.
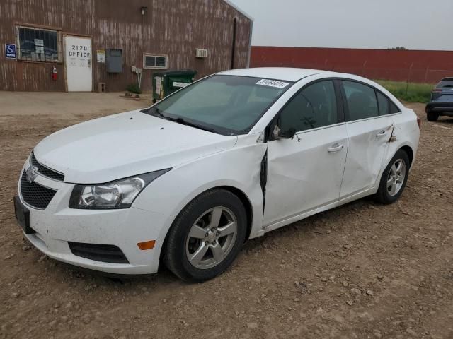
[(255, 69), (231, 69), (217, 74), (224, 76), (252, 76), (254, 78), (266, 78), (282, 81), (299, 81), (306, 76), (314, 76), (315, 74), (332, 74), (333, 76), (339, 73), (330, 71), (321, 71), (319, 69), (293, 69), (289, 67), (262, 67)]

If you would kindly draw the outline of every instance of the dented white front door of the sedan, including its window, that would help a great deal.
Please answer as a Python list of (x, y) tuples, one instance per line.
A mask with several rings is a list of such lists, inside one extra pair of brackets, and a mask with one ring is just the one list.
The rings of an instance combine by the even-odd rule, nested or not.
[(348, 136), (336, 87), (332, 80), (306, 85), (277, 116), (275, 131), (297, 133), (268, 141), (265, 226), (338, 200)]

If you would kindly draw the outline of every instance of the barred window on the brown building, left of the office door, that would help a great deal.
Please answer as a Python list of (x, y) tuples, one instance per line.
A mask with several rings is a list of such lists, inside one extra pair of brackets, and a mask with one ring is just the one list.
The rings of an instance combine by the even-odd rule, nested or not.
[(18, 27), (18, 59), (61, 61), (59, 32), (41, 28)]

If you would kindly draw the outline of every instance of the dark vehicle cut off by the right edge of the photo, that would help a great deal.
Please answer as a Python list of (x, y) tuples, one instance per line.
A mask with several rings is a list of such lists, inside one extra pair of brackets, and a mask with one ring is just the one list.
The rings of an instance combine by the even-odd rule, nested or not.
[(437, 83), (426, 105), (428, 121), (437, 121), (441, 116), (453, 117), (453, 78), (443, 78)]

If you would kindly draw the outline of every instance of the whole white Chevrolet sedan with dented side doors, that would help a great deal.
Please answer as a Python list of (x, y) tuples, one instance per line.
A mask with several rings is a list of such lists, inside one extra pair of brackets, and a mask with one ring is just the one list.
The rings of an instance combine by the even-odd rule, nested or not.
[(382, 86), (309, 69), (238, 69), (147, 109), (42, 140), (15, 198), (59, 261), (183, 280), (224, 272), (246, 239), (364, 196), (396, 201), (419, 125)]

